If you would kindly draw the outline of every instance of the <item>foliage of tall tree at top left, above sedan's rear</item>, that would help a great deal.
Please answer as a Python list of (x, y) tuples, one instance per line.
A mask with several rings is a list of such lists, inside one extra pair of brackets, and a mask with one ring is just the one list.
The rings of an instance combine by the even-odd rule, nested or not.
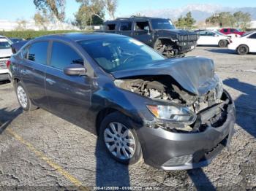
[(64, 21), (66, 0), (34, 0), (34, 5), (39, 11), (48, 12), (51, 20)]

